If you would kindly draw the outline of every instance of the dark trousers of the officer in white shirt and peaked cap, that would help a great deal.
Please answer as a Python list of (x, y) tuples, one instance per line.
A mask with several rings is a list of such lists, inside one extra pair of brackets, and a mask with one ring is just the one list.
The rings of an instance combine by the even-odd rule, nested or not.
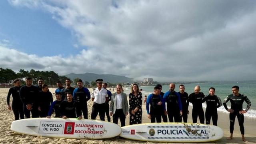
[(103, 120), (105, 121), (105, 103), (103, 104), (97, 104), (96, 102), (93, 103), (93, 106), (92, 106), (92, 120), (95, 120), (98, 113), (100, 113), (100, 120)]

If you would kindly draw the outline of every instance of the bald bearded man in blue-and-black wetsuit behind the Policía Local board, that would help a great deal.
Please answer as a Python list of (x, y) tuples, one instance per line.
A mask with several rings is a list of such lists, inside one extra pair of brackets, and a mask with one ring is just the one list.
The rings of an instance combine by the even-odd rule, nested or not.
[(175, 89), (174, 83), (171, 83), (169, 85), (169, 89), (170, 90), (164, 94), (164, 98), (163, 98), (164, 105), (165, 105), (165, 102), (167, 102), (167, 113), (168, 113), (169, 122), (181, 122), (182, 104), (180, 100), (180, 94), (174, 91)]

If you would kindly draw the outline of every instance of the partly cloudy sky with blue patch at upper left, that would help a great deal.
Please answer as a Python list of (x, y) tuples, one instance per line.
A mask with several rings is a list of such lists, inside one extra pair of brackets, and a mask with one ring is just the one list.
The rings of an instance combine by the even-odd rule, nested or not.
[(1, 0), (0, 67), (256, 80), (255, 0)]

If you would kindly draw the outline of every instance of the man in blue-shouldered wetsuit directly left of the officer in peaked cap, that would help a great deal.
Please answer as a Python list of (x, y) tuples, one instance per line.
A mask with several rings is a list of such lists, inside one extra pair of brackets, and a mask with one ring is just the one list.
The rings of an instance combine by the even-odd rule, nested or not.
[(73, 92), (74, 100), (78, 103), (79, 109), (83, 112), (84, 118), (88, 119), (88, 108), (87, 108), (87, 101), (90, 100), (91, 94), (89, 90), (83, 87), (83, 81), (79, 79), (77, 81), (77, 86)]

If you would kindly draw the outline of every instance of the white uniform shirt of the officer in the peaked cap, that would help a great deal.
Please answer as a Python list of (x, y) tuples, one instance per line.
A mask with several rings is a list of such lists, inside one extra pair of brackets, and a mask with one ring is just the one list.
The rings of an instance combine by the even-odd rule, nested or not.
[(93, 102), (96, 102), (97, 104), (105, 103), (107, 97), (108, 91), (104, 88), (101, 88), (101, 90), (95, 88), (95, 90), (92, 91), (92, 98), (94, 98)]

